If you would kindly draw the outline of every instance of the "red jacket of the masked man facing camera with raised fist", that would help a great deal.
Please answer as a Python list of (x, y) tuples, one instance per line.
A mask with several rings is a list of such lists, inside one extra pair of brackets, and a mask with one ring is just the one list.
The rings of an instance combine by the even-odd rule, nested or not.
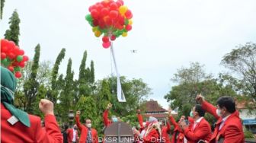
[[(76, 122), (76, 125), (78, 126), (78, 129), (81, 132), (79, 142), (85, 143), (87, 139), (88, 128), (81, 124), (79, 120), (79, 116), (75, 116), (75, 122)], [(98, 143), (98, 132), (96, 131), (96, 129), (91, 128), (91, 138), (92, 138), (92, 143)]]

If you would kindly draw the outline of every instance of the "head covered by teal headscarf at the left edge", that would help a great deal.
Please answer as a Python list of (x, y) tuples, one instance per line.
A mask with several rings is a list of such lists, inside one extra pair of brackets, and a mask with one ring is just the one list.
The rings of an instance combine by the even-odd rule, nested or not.
[(17, 82), (7, 68), (1, 66), (1, 101), (13, 104)]

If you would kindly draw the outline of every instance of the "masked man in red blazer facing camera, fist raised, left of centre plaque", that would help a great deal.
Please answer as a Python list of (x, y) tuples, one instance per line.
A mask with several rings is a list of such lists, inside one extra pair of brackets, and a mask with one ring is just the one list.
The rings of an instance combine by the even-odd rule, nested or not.
[[(91, 119), (86, 119), (84, 126), (80, 122), (79, 116), (80, 111), (77, 111), (75, 116), (75, 122), (81, 132), (79, 143), (98, 143), (98, 132), (96, 131), (96, 129), (91, 128)], [(88, 132), (90, 132), (91, 136), (88, 135)]]

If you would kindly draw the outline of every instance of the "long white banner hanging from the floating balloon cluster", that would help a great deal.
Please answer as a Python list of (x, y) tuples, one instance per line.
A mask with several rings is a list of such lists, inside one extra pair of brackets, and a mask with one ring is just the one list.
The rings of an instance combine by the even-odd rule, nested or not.
[(121, 81), (120, 81), (120, 75), (119, 75), (119, 72), (117, 70), (117, 62), (116, 62), (116, 58), (114, 56), (114, 49), (113, 49), (113, 43), (111, 42), (111, 46), (110, 46), (110, 49), (111, 49), (111, 55), (113, 57), (113, 60), (114, 60), (114, 66), (115, 66), (115, 69), (116, 69), (116, 73), (117, 73), (117, 100), (119, 102), (126, 102), (126, 99), (124, 97), (124, 94), (123, 94), (123, 91), (122, 91), (122, 86), (121, 86)]

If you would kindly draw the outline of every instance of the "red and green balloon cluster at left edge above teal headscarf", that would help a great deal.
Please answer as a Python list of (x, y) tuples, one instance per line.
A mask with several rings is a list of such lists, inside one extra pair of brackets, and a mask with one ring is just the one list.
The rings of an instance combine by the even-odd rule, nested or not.
[(16, 78), (21, 78), (21, 68), (24, 68), (28, 57), (24, 56), (24, 50), (14, 42), (1, 40), (1, 65), (14, 73)]

